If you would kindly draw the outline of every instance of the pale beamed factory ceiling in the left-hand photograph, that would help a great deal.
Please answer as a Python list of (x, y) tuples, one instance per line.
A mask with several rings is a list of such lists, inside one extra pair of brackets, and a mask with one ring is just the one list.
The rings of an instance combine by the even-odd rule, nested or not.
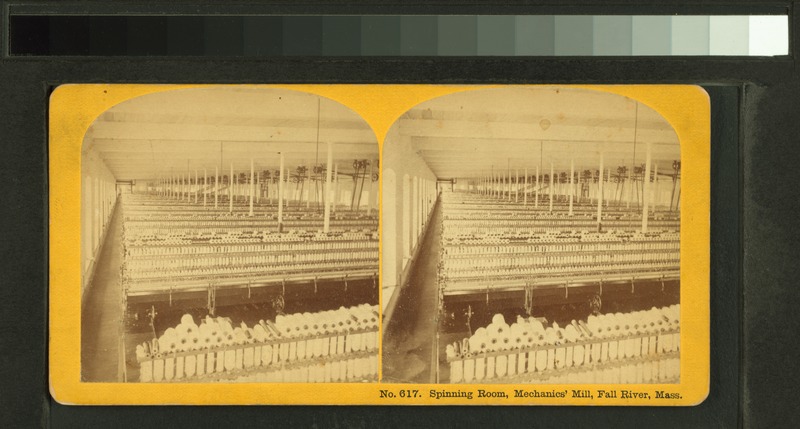
[(349, 108), (297, 91), (246, 86), (170, 90), (101, 114), (84, 138), (117, 180), (324, 164), (327, 143), (344, 174), (354, 159), (378, 158), (375, 134)]

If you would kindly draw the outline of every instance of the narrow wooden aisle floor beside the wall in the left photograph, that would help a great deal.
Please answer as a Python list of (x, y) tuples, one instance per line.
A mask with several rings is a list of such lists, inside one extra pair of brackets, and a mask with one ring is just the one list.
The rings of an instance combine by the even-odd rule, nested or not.
[(115, 382), (123, 380), (122, 215), (114, 209), (105, 244), (95, 261), (96, 271), (81, 309), (81, 379)]

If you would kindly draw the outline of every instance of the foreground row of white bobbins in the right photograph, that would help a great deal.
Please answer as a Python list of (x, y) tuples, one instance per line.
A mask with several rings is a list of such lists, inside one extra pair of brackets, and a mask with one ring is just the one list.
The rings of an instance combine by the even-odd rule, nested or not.
[(547, 376), (571, 368), (602, 369), (618, 362), (636, 366), (659, 356), (674, 357), (679, 350), (680, 305), (676, 304), (592, 315), (563, 328), (522, 317), (509, 326), (497, 314), (469, 338), (448, 344), (445, 353), (450, 381), (458, 383), (528, 373)]

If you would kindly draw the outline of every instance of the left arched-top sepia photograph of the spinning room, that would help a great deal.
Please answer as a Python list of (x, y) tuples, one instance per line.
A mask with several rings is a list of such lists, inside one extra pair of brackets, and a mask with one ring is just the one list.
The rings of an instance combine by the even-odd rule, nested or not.
[(81, 151), (81, 381), (377, 381), (378, 159), (357, 113), (299, 91), (102, 113)]

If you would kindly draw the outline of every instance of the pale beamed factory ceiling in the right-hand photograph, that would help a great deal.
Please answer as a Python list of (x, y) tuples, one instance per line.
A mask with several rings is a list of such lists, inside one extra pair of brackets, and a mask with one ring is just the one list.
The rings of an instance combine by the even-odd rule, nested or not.
[[(406, 112), (400, 138), (440, 179), (484, 177), (491, 171), (535, 174), (641, 166), (649, 142), (659, 172), (680, 159), (672, 126), (630, 98), (574, 88), (502, 88), (440, 97)], [(397, 135), (397, 134), (395, 134)], [(387, 147), (391, 142), (387, 140)], [(662, 174), (663, 174), (662, 173)]]

